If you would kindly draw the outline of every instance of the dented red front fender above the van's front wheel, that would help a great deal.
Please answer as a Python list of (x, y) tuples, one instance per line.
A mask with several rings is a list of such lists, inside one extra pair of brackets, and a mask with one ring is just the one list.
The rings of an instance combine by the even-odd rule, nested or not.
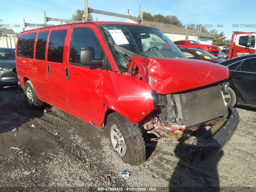
[(148, 84), (116, 72), (105, 73), (103, 100), (132, 123), (139, 123), (154, 109)]

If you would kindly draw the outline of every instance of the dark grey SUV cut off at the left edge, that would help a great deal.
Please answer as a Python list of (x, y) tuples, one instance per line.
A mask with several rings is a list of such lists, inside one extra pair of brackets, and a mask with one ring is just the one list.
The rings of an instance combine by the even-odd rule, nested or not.
[(0, 48), (0, 89), (17, 84), (15, 48)]

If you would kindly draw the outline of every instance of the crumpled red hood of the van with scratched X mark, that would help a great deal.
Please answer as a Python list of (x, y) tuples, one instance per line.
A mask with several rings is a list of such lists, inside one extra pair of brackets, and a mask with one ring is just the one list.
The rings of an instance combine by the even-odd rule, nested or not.
[(230, 75), (225, 66), (186, 58), (133, 57), (126, 67), (134, 70), (132, 76), (142, 78), (158, 94), (198, 88), (227, 79)]

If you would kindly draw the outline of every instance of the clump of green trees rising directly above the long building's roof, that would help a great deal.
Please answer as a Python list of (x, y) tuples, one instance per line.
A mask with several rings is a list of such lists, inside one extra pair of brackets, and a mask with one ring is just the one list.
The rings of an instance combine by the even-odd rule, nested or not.
[(164, 16), (160, 13), (152, 15), (148, 12), (143, 12), (143, 20), (182, 26), (182, 22), (179, 20), (177, 16), (174, 15)]

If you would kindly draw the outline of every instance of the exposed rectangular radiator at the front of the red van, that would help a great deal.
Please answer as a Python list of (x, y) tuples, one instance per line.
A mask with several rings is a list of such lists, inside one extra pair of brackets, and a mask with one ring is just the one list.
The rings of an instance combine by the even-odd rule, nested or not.
[(173, 96), (177, 114), (187, 128), (228, 115), (220, 85)]

